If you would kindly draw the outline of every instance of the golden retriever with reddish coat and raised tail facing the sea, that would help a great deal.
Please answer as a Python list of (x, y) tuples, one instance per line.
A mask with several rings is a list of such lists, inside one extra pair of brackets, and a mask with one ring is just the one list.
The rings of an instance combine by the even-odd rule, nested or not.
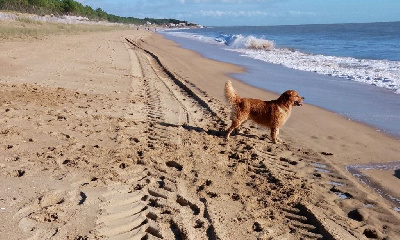
[(271, 130), (273, 143), (279, 141), (279, 128), (285, 124), (290, 116), (292, 106), (303, 105), (304, 97), (294, 90), (287, 90), (272, 101), (260, 99), (241, 98), (233, 89), (231, 81), (225, 84), (226, 100), (232, 105), (232, 125), (228, 128), (225, 137), (228, 139), (232, 131), (248, 119), (268, 127)]

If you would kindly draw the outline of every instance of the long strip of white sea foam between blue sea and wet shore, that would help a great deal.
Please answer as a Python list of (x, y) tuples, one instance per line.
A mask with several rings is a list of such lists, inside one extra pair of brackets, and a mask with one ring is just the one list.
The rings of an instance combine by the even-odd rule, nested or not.
[(364, 82), (400, 94), (400, 62), (306, 54), (290, 49), (227, 49), (288, 68)]

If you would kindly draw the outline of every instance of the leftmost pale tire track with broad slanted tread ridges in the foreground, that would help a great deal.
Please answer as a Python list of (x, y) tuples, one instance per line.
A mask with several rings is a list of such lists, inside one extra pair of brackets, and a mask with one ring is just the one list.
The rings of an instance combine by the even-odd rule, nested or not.
[[(143, 146), (147, 143), (147, 134), (144, 129), (148, 120), (146, 92), (143, 87), (144, 74), (136, 53), (126, 43), (124, 44), (130, 55), (132, 81), (131, 89), (129, 89), (129, 104), (122, 121), (125, 126), (119, 127), (121, 138), (119, 143), (125, 144), (126, 141), (123, 139), (127, 136), (129, 140), (139, 143), (137, 151), (141, 153), (140, 149), (146, 148)], [(129, 120), (133, 124), (126, 124)], [(101, 196), (100, 214), (93, 231), (96, 238), (142, 239), (148, 232), (157, 235), (148, 218), (145, 194), (132, 187), (147, 176), (140, 171), (141, 166), (138, 165), (135, 169), (139, 171), (132, 173), (125, 172), (123, 168), (117, 170), (119, 181), (107, 185), (107, 189)]]

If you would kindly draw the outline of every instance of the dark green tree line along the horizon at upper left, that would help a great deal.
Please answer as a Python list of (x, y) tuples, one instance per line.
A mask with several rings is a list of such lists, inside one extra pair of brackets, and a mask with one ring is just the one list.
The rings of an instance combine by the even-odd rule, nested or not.
[(185, 23), (190, 25), (187, 21), (177, 19), (120, 17), (108, 14), (101, 8), (93, 9), (88, 5), (83, 6), (83, 4), (73, 0), (0, 0), (0, 10), (33, 13), (37, 15), (74, 15), (87, 17), (90, 20), (136, 25), (143, 25), (148, 22), (157, 25), (166, 25), (169, 23)]

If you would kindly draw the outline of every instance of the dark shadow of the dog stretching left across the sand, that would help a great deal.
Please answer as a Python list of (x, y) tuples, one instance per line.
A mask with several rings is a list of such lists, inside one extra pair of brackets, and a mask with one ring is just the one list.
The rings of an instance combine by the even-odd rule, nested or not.
[[(212, 130), (212, 129), (203, 129), (201, 127), (198, 126), (190, 126), (187, 124), (183, 124), (183, 125), (177, 125), (177, 124), (172, 124), (172, 123), (166, 123), (166, 122), (158, 122), (158, 124), (160, 124), (161, 126), (164, 127), (174, 127), (174, 128), (179, 128), (182, 127), (183, 129), (192, 132), (205, 132), (206, 134), (210, 135), (210, 136), (216, 136), (216, 137), (221, 137), (223, 139), (225, 139), (225, 134), (226, 134), (226, 130), (225, 129), (220, 129), (220, 130)], [(259, 139), (259, 140), (268, 140), (271, 141), (268, 137), (262, 135), (261, 137), (254, 135), (254, 134), (248, 134), (248, 133), (241, 133), (239, 132), (237, 129), (235, 131), (232, 132), (231, 136), (242, 136), (245, 138), (252, 138), (252, 139)]]

